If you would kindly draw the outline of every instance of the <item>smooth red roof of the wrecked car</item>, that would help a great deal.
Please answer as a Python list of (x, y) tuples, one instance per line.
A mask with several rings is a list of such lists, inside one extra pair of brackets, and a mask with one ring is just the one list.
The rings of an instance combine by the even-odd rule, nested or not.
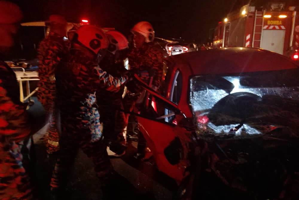
[[(298, 68), (291, 59), (257, 48), (227, 47), (171, 56), (174, 63), (190, 66), (193, 75), (229, 74)], [(183, 69), (182, 66), (179, 67)]]

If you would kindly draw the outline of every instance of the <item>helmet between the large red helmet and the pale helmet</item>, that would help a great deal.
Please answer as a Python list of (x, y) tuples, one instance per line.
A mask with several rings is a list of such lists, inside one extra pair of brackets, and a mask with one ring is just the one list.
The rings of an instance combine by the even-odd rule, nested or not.
[(126, 39), (126, 36), (124, 36), (122, 33), (111, 30), (106, 33), (106, 36), (109, 40), (109, 47), (108, 51), (115, 54), (118, 50), (124, 50), (129, 48), (129, 42), (128, 39)]

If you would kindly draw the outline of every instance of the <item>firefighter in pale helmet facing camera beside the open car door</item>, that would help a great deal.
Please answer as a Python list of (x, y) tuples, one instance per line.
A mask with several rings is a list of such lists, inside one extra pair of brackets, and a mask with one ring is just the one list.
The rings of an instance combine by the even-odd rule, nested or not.
[[(139, 69), (141, 79), (149, 84), (152, 89), (158, 91), (163, 73), (163, 54), (152, 44), (155, 38), (155, 31), (149, 22), (141, 21), (135, 24), (131, 32), (134, 34), (134, 47), (129, 53), (130, 69)], [(123, 99), (123, 106), (127, 112), (132, 112), (137, 100), (140, 103), (143, 102), (145, 91), (133, 82), (130, 82), (127, 87), (128, 92)], [(126, 125), (128, 125), (128, 120), (129, 114), (126, 114)], [(146, 156), (145, 150), (145, 139), (139, 133), (137, 158)]]

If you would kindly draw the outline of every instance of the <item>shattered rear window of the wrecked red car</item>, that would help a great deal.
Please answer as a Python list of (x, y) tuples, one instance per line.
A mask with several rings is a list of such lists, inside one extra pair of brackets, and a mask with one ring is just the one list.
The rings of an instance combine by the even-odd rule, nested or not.
[(190, 105), (199, 137), (252, 137), (284, 130), (298, 137), (298, 69), (195, 76)]

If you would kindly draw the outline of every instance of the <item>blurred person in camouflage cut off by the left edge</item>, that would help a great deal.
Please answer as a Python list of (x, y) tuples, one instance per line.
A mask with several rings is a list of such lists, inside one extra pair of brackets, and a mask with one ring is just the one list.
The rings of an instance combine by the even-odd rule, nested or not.
[(0, 199), (33, 199), (18, 145), (30, 134), (26, 106), (20, 102), (15, 73), (3, 61), (21, 19), (16, 4), (0, 1)]

